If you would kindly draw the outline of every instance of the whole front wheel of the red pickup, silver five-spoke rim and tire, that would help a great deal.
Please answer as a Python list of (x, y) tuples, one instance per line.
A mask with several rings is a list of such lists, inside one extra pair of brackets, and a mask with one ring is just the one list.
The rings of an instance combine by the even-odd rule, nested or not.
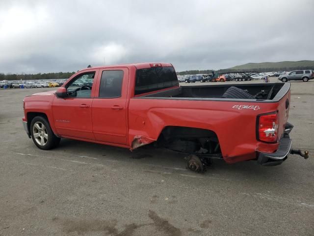
[(30, 123), (30, 134), (37, 148), (49, 150), (60, 143), (60, 138), (52, 132), (48, 120), (43, 117), (35, 117)]

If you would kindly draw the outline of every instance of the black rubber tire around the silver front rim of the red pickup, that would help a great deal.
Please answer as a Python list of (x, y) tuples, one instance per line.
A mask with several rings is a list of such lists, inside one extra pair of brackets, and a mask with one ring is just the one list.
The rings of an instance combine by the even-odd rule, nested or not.
[[(36, 122), (41, 122), (42, 124), (45, 125), (46, 131), (48, 134), (48, 139), (47, 139), (46, 144), (44, 144), (44, 145), (38, 144), (37, 141), (35, 140), (35, 137), (33, 134), (33, 130), (34, 130), (33, 126)], [(49, 122), (47, 121), (46, 118), (43, 118), (43, 117), (35, 117), (32, 119), (32, 121), (30, 122), (30, 135), (31, 135), (31, 138), (32, 138), (34, 144), (37, 146), (37, 148), (40, 148), (43, 150), (49, 150), (49, 149), (55, 148), (60, 143), (60, 138), (58, 138), (54, 135), (54, 133), (52, 132), (52, 129), (50, 127)]]

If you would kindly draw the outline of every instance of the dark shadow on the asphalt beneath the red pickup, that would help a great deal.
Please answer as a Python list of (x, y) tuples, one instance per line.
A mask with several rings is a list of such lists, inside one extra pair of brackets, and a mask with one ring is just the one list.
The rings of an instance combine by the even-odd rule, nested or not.
[[(86, 155), (97, 157), (101, 160), (111, 159), (128, 164), (141, 163), (152, 167), (165, 168), (171, 170), (185, 170), (185, 173), (193, 174), (192, 171), (186, 170), (186, 155), (174, 151), (155, 148), (153, 145), (147, 145), (136, 150), (130, 151), (127, 148), (119, 148), (101, 144), (87, 143), (69, 139), (62, 139), (60, 146), (56, 150), (65, 153), (75, 153), (78, 155)], [(286, 163), (288, 162), (288, 163)], [(288, 164), (288, 165), (286, 165)], [(289, 160), (282, 165), (265, 167), (259, 165), (256, 161), (245, 161), (235, 164), (227, 164), (224, 160), (213, 160), (213, 164), (207, 167), (204, 174), (194, 173), (202, 177), (209, 175), (218, 175), (224, 178), (274, 178), (281, 179), (286, 175), (291, 175), (291, 170), (288, 167), (291, 164)], [(130, 166), (130, 168), (132, 168)], [(294, 169), (294, 168), (293, 168)], [(281, 180), (279, 180), (281, 182)]]

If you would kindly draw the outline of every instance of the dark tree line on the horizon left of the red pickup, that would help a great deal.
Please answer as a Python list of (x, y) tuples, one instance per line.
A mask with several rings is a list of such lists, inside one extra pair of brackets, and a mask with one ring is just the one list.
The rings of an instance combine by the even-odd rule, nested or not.
[(38, 73), (38, 74), (3, 74), (0, 73), (1, 80), (55, 80), (68, 79), (76, 72)]

